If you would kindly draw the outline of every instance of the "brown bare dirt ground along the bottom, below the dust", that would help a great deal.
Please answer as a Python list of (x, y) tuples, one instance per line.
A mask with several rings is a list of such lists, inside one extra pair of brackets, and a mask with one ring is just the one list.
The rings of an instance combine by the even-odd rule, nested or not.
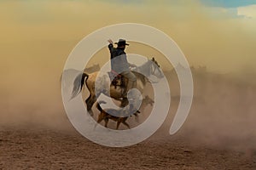
[(66, 130), (1, 127), (1, 169), (255, 169), (251, 153), (189, 143), (160, 131), (126, 148), (94, 144), (67, 122)]

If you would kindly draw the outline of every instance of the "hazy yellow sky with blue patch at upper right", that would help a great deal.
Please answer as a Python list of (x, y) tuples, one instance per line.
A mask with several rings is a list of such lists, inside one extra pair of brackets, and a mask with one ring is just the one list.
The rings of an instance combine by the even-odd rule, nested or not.
[(1, 0), (0, 22), (0, 70), (8, 73), (4, 77), (40, 71), (59, 74), (83, 37), (123, 22), (166, 32), (189, 65), (207, 65), (218, 72), (255, 70), (256, 1), (252, 0)]

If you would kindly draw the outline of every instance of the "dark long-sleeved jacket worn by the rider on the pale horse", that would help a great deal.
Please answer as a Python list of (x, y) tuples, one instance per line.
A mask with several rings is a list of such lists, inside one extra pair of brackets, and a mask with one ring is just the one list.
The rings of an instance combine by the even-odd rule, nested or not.
[(129, 64), (125, 51), (122, 48), (113, 48), (113, 44), (108, 45), (111, 54), (111, 69), (115, 72), (129, 71)]

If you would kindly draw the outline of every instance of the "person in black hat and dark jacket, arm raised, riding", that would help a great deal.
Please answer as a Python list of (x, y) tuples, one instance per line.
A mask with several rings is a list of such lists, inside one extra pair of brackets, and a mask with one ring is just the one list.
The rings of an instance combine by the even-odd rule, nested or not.
[(129, 69), (130, 67), (134, 67), (136, 65), (132, 65), (127, 61), (125, 46), (129, 46), (129, 44), (126, 43), (124, 39), (119, 39), (119, 42), (115, 42), (115, 44), (117, 44), (117, 48), (113, 48), (113, 41), (111, 39), (109, 39), (108, 42), (108, 48), (111, 54), (112, 71), (128, 79), (127, 87), (125, 90), (126, 98), (127, 92), (131, 88), (136, 88), (137, 86), (137, 78)]

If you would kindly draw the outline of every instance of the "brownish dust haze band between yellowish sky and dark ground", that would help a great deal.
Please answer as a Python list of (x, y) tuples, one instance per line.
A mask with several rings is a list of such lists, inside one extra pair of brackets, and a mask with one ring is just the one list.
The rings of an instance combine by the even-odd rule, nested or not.
[[(172, 102), (166, 122), (157, 132), (161, 138), (178, 136), (191, 144), (232, 150), (255, 149), (256, 83), (253, 82), (253, 74), (241, 74), (241, 77), (236, 74), (211, 73), (201, 68), (192, 68), (192, 73), (195, 94), (191, 111), (183, 127), (170, 137), (168, 131), (179, 103), (179, 85), (176, 73), (165, 71), (171, 87)], [(7, 91), (1, 88), (1, 126), (47, 127), (62, 131), (72, 128), (62, 105), (61, 82), (58, 78), (56, 74), (53, 83), (45, 83), (44, 86), (41, 82), (39, 91), (38, 88), (32, 89), (38, 82), (20, 87), (22, 90), (14, 88), (13, 91)], [(46, 79), (49, 81), (49, 78)], [(151, 109), (150, 105), (146, 107), (139, 116), (140, 123), (148, 117)], [(134, 117), (128, 122), (131, 127), (138, 125)], [(114, 128), (115, 122), (110, 121), (109, 126)], [(125, 127), (121, 125), (121, 129)]]

